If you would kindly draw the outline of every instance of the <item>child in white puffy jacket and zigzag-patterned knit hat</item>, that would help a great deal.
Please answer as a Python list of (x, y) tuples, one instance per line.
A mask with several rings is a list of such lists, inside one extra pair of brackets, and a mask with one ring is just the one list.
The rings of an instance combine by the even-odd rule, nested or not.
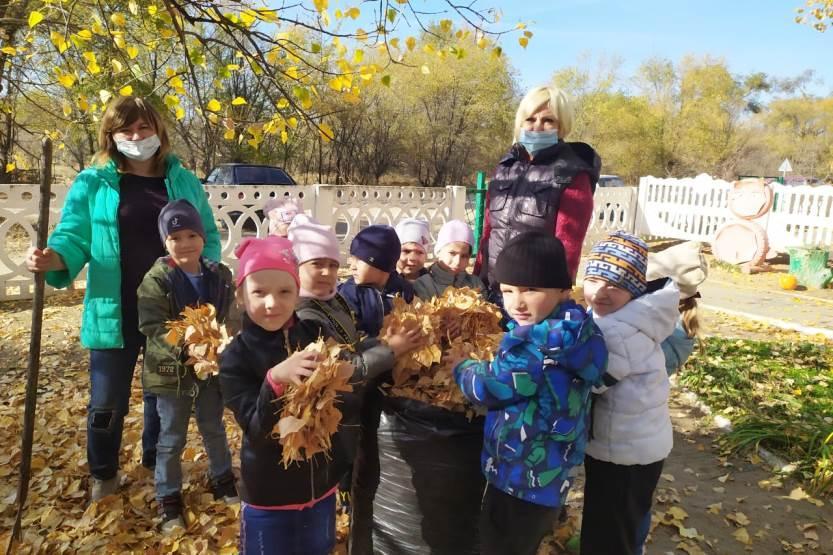
[(648, 247), (617, 231), (597, 243), (584, 298), (610, 361), (593, 403), (584, 462), (582, 553), (641, 554), (651, 501), (673, 437), (661, 344), (674, 331), (680, 292), (648, 292)]

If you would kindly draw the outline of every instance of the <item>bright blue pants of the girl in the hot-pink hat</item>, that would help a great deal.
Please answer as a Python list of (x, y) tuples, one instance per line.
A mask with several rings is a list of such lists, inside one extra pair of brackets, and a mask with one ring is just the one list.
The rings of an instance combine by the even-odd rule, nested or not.
[[(278, 471), (279, 472), (279, 471)], [(243, 504), (241, 555), (329, 555), (336, 543), (336, 495), (302, 510), (256, 509)]]

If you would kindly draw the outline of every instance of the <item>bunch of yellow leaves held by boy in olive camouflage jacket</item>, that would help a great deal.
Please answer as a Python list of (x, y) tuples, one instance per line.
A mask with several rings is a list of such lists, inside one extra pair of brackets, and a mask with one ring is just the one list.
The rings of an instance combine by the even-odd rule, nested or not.
[(185, 350), (185, 364), (194, 367), (201, 380), (220, 373), (218, 355), (229, 344), (225, 324), (217, 323), (217, 310), (210, 303), (197, 307), (186, 306), (177, 320), (165, 322), (168, 334), (165, 342)]

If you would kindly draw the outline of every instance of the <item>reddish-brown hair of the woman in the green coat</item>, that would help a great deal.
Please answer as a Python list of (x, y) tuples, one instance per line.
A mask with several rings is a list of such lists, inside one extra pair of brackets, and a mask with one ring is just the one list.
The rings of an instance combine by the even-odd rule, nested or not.
[(107, 106), (98, 129), (98, 152), (95, 162), (103, 165), (113, 160), (120, 171), (127, 171), (127, 158), (116, 148), (113, 132), (143, 119), (153, 127), (161, 146), (154, 155), (154, 169), (164, 170), (165, 158), (171, 151), (165, 121), (149, 102), (138, 96), (120, 96)]

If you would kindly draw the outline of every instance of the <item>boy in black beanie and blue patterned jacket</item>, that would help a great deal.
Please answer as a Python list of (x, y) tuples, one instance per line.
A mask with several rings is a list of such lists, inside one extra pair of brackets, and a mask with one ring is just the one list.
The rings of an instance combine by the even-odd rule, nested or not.
[(570, 299), (561, 241), (522, 233), (495, 276), (512, 321), (493, 362), (454, 369), (463, 394), (488, 409), (481, 464), (483, 555), (533, 555), (552, 529), (584, 460), (590, 389), (607, 364), (601, 332)]

